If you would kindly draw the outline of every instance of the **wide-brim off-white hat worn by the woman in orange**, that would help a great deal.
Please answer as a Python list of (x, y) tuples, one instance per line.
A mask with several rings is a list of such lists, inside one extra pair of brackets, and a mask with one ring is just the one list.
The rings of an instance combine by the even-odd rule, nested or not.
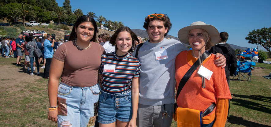
[(187, 37), (188, 37), (188, 33), (190, 30), (193, 29), (204, 29), (207, 31), (207, 33), (210, 35), (211, 38), (211, 42), (212, 45), (215, 45), (218, 43), (218, 41), (220, 40), (220, 34), (218, 32), (218, 30), (212, 26), (212, 25), (208, 25), (202, 21), (197, 21), (197, 22), (193, 22), (192, 24), (190, 24), (190, 26), (181, 28), (178, 32), (178, 38), (180, 39), (181, 42), (186, 43), (188, 45), (189, 42), (187, 41)]

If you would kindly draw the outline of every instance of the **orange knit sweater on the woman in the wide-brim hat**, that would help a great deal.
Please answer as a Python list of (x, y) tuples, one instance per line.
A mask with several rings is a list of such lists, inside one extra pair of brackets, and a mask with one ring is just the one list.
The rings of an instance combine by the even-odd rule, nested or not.
[[(178, 56), (176, 57), (175, 65), (175, 78), (177, 83), (176, 89), (178, 89), (181, 78), (196, 60), (197, 59), (192, 56), (191, 50), (182, 51), (180, 54), (178, 54)], [(218, 112), (221, 112), (221, 110), (223, 111), (223, 118), (218, 118), (217, 120), (220, 121), (219, 119), (223, 119), (223, 121), (225, 121), (228, 111), (227, 99), (231, 99), (231, 94), (228, 88), (225, 70), (224, 68), (217, 67), (214, 64), (214, 60), (215, 56), (211, 54), (210, 57), (206, 58), (206, 60), (203, 61), (203, 66), (213, 72), (210, 80), (205, 79), (206, 88), (202, 88), (202, 79), (197, 73), (199, 70), (198, 67), (194, 71), (194, 73), (192, 73), (191, 77), (187, 80), (187, 83), (184, 85), (184, 88), (180, 92), (180, 95), (176, 102), (178, 104), (178, 107), (204, 111), (212, 103), (218, 104), (218, 100), (221, 100), (221, 102), (219, 102), (219, 104), (216, 106), (216, 109), (218, 108), (218, 106), (222, 107), (222, 109), (219, 109), (220, 111)], [(224, 108), (227, 108), (227, 110), (225, 110)], [(213, 112), (203, 118), (203, 124), (208, 124), (212, 122), (216, 117), (215, 115), (221, 116), (221, 114), (213, 114), (214, 112), (216, 112), (216, 109), (214, 109)]]

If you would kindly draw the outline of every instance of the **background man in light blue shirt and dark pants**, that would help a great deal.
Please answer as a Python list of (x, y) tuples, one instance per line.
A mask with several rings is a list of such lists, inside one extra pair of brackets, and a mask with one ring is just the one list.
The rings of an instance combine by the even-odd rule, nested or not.
[(50, 64), (54, 54), (54, 42), (50, 34), (47, 35), (47, 39), (45, 39), (43, 47), (44, 47), (44, 58), (46, 59), (45, 68), (43, 72), (43, 78), (49, 78), (49, 70)]

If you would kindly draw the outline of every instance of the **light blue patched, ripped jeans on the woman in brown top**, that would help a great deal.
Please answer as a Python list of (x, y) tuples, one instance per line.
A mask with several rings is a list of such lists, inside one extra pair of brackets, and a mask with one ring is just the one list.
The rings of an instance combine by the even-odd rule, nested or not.
[(91, 87), (58, 86), (58, 127), (91, 127), (98, 112), (99, 84)]

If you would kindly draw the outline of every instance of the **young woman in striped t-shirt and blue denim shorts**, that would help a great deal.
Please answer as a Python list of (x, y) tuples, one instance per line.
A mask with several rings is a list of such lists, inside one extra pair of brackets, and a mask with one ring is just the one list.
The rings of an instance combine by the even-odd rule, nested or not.
[(128, 27), (119, 28), (110, 43), (116, 51), (103, 54), (99, 76), (102, 83), (99, 98), (100, 127), (135, 127), (139, 98), (140, 62), (131, 53), (138, 41)]

